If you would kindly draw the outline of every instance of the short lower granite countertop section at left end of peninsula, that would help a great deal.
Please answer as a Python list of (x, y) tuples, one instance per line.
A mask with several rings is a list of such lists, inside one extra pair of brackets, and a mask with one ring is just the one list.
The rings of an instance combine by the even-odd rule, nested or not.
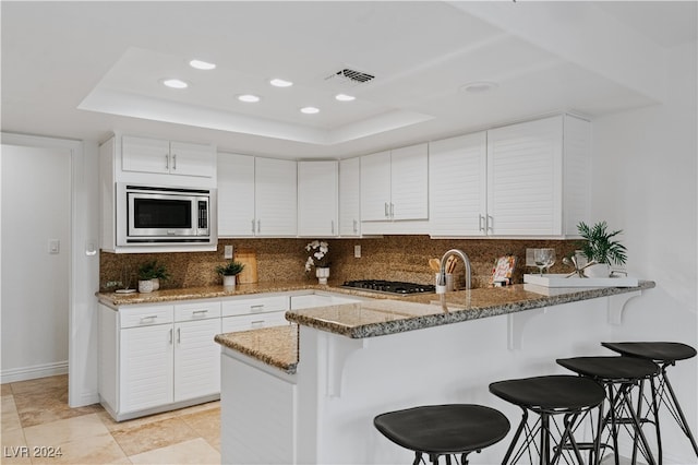
[(298, 367), (298, 325), (218, 334), (216, 342), (289, 374)]

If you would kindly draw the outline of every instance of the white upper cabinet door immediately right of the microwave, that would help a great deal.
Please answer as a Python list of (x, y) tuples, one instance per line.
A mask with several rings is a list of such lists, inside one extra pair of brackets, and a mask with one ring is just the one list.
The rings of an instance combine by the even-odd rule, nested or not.
[(254, 157), (218, 154), (218, 237), (254, 236)]

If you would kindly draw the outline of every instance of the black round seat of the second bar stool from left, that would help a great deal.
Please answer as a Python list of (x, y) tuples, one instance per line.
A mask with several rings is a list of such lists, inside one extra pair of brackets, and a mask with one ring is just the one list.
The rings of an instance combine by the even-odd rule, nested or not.
[(497, 381), (490, 392), (532, 410), (578, 410), (603, 402), (603, 388), (593, 380), (558, 374)]

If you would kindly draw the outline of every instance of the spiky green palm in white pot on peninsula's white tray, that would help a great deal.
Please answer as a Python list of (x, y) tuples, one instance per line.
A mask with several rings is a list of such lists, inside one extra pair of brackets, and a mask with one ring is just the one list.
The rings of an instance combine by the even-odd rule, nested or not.
[(593, 263), (585, 270), (585, 275), (589, 277), (609, 277), (611, 263), (623, 265), (627, 260), (627, 249), (614, 239), (623, 230), (609, 231), (607, 228), (606, 222), (599, 222), (593, 226), (585, 222), (577, 225), (577, 230), (583, 239), (579, 245), (581, 253), (588, 263)]

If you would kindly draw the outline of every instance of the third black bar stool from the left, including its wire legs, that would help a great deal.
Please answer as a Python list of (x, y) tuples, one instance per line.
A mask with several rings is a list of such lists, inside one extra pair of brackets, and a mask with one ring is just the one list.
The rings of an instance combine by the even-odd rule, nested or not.
[[(651, 379), (659, 372), (659, 367), (651, 360), (643, 360), (630, 357), (574, 357), (557, 359), (557, 363), (582, 377), (589, 377), (601, 383), (606, 390), (609, 408), (605, 414), (599, 414), (599, 446), (601, 436), (609, 429), (613, 440), (613, 454), (616, 465), (619, 463), (618, 455), (618, 430), (623, 426), (633, 434), (633, 458), (635, 463), (638, 439), (640, 451), (650, 465), (654, 465), (654, 457), (650, 445), (642, 432), (642, 422), (650, 421), (641, 416), (641, 412), (633, 407), (631, 391), (638, 388), (638, 396), (642, 396), (643, 381)], [(657, 412), (654, 409), (654, 412)], [(599, 457), (600, 458), (600, 457)]]

